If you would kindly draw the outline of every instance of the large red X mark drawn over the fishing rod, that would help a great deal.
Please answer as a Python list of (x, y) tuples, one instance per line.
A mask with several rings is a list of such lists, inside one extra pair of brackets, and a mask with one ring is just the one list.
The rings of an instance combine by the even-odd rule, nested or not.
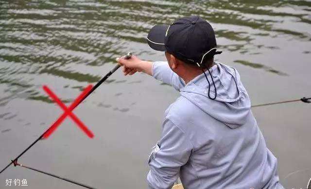
[(77, 125), (82, 129), (83, 132), (90, 138), (94, 137), (94, 134), (87, 129), (86, 125), (79, 120), (73, 113), (72, 110), (82, 102), (87, 93), (92, 89), (92, 85), (87, 86), (84, 91), (74, 100), (73, 103), (69, 107), (67, 107), (64, 103), (60, 101), (60, 99), (52, 92), (52, 90), (48, 86), (43, 86), (43, 90), (45, 90), (48, 95), (55, 101), (65, 112), (52, 124), (52, 126), (43, 134), (43, 138), (48, 138), (60, 125), (63, 120), (69, 115), (70, 118), (77, 123)]

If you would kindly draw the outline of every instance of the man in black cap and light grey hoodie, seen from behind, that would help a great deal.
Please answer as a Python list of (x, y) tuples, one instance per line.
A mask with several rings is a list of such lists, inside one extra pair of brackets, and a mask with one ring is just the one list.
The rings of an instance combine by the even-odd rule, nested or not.
[(121, 57), (124, 75), (142, 71), (180, 93), (149, 156), (149, 188), (170, 189), (179, 176), (185, 189), (283, 189), (237, 69), (214, 61), (211, 25), (183, 17), (154, 26), (147, 41), (167, 62)]

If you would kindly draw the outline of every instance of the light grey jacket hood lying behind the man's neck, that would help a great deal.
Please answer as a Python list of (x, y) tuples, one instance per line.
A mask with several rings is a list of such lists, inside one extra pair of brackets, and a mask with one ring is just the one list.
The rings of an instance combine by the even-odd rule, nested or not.
[[(218, 62), (209, 70), (217, 91), (215, 100), (208, 98), (208, 82), (203, 73), (180, 88), (180, 94), (231, 129), (240, 127), (246, 122), (251, 103), (238, 71)], [(208, 71), (206, 74), (210, 83), (210, 97), (214, 98), (211, 75)]]

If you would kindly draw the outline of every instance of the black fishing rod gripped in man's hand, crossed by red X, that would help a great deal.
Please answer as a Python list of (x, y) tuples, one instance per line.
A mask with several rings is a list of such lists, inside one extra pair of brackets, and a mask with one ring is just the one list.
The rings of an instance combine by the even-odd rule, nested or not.
[[(124, 59), (129, 59), (131, 58), (133, 55), (132, 52), (128, 52), (123, 58)], [(78, 101), (70, 110), (73, 110), (75, 107), (77, 107), (81, 102), (83, 102), (87, 96), (89, 96), (97, 87), (99, 87), (102, 83), (104, 83), (104, 81), (110, 76), (112, 75), (117, 69), (119, 69), (121, 67), (120, 64), (118, 64), (117, 66), (115, 66), (113, 69), (111, 69), (99, 82), (96, 83), (95, 86), (92, 87), (92, 89), (86, 93), (86, 95), (84, 96), (84, 98), (82, 98), (82, 100)], [(53, 126), (53, 125), (52, 125)], [(51, 126), (51, 127), (52, 127)], [(0, 174), (6, 170), (8, 167), (10, 167), (10, 165), (14, 164), (15, 166), (17, 165), (17, 160), (19, 157), (21, 157), (23, 154), (25, 154), (31, 147), (33, 147), (35, 145), (35, 143), (37, 143), (40, 139), (43, 138), (43, 136), (48, 133), (51, 130), (51, 127), (49, 127), (40, 137), (38, 137), (31, 145), (29, 145), (22, 153), (20, 153), (14, 160), (11, 160), (11, 162), (0, 171)], [(35, 171), (35, 169), (32, 169)], [(41, 171), (39, 171), (41, 172)], [(43, 173), (43, 172), (42, 172)], [(52, 174), (48, 173), (48, 175), (52, 176)], [(73, 183), (73, 182), (71, 182)], [(75, 183), (77, 184), (77, 183)], [(78, 184), (79, 185), (79, 184)], [(81, 185), (80, 185), (81, 186)]]

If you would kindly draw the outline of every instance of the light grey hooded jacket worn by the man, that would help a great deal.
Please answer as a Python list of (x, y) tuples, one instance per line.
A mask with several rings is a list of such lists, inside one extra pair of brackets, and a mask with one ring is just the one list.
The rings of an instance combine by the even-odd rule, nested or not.
[(153, 64), (155, 79), (181, 96), (166, 110), (149, 156), (149, 188), (171, 189), (179, 176), (185, 189), (283, 189), (238, 71), (221, 63), (209, 70), (215, 100), (203, 73), (185, 85), (167, 62)]

